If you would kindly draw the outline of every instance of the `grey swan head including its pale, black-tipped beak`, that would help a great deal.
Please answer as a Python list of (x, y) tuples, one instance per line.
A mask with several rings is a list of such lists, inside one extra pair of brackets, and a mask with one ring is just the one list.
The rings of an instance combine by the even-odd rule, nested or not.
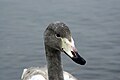
[(68, 55), (74, 62), (84, 65), (86, 61), (78, 54), (68, 26), (62, 22), (48, 25), (44, 32), (45, 46), (59, 50)]

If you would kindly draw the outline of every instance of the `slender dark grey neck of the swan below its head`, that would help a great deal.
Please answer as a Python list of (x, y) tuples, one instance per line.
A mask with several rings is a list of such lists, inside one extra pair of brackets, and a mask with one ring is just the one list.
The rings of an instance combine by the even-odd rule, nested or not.
[(63, 70), (61, 66), (61, 53), (58, 50), (45, 46), (48, 79), (49, 80), (63, 80)]

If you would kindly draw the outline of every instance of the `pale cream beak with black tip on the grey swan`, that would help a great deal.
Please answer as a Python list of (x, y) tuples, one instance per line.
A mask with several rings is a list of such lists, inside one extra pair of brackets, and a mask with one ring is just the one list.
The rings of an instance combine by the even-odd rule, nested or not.
[(62, 51), (67, 54), (74, 62), (80, 65), (85, 65), (86, 61), (78, 54), (72, 37), (71, 41), (69, 41), (67, 38), (62, 38)]

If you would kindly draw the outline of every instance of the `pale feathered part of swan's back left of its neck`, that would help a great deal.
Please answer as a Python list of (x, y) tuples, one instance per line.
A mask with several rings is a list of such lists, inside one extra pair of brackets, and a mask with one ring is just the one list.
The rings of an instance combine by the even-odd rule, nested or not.
[(47, 70), (45, 68), (31, 67), (23, 70), (22, 80), (48, 80)]

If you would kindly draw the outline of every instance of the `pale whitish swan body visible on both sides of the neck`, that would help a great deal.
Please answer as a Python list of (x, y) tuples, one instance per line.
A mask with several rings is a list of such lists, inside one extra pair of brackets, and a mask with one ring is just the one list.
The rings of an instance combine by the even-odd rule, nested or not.
[[(77, 80), (70, 73), (63, 71), (64, 80)], [(22, 80), (48, 80), (47, 68), (31, 67), (23, 70)]]

